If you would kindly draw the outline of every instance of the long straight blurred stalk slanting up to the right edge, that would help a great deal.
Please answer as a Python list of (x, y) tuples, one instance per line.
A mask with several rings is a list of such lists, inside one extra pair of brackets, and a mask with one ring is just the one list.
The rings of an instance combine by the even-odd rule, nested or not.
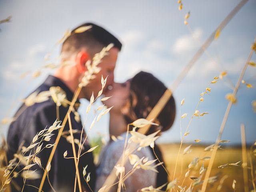
[[(256, 42), (256, 39), (254, 40), (254, 42)], [(249, 56), (248, 56), (248, 59), (244, 65), (244, 68), (242, 69), (241, 73), (240, 73), (240, 76), (238, 78), (238, 81), (236, 83), (236, 87), (233, 91), (233, 96), (236, 96), (236, 93), (238, 91), (238, 88), (241, 84), (241, 81), (242, 81), (242, 78), (244, 76), (244, 73), (246, 71), (246, 68), (248, 66), (248, 63), (250, 62), (251, 58), (252, 58), (252, 54), (253, 54), (254, 50), (251, 50)], [(207, 168), (207, 171), (206, 171), (206, 174), (205, 174), (205, 178), (204, 178), (204, 183), (202, 185), (202, 191), (201, 192), (205, 192), (206, 190), (206, 186), (207, 186), (207, 182), (208, 182), (208, 178), (210, 177), (210, 172), (211, 172), (211, 169), (212, 169), (212, 165), (213, 165), (213, 162), (214, 162), (214, 158), (216, 156), (216, 152), (217, 152), (217, 149), (218, 149), (218, 144), (220, 142), (220, 139), (221, 139), (221, 136), (222, 136), (222, 133), (224, 131), (224, 127), (226, 125), (226, 122), (227, 122), (227, 119), (228, 119), (228, 114), (230, 112), (230, 109), (231, 109), (231, 106), (232, 106), (232, 101), (230, 101), (228, 103), (228, 106), (226, 108), (226, 112), (224, 114), (224, 117), (223, 117), (223, 120), (222, 120), (222, 123), (220, 125), (220, 131), (219, 131), (219, 134), (218, 134), (218, 137), (216, 139), (216, 142), (215, 142), (215, 145), (214, 145), (214, 148), (213, 148), (213, 151), (212, 151), (212, 156), (210, 158), (210, 162), (209, 162), (209, 165), (208, 165), (208, 168)]]

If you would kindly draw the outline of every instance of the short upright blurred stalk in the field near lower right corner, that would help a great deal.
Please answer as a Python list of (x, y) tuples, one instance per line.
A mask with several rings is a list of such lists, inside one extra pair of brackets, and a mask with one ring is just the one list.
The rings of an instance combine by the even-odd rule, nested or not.
[(242, 141), (242, 167), (243, 167), (243, 174), (244, 174), (244, 192), (249, 191), (248, 186), (248, 166), (247, 166), (247, 154), (246, 154), (246, 138), (245, 138), (245, 127), (244, 124), (241, 124), (241, 141)]

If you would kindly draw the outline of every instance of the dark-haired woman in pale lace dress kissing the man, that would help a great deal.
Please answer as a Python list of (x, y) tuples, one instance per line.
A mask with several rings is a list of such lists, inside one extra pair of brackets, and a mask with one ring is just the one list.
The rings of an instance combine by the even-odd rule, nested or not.
[[(112, 90), (106, 93), (106, 96), (113, 96), (104, 101), (108, 107), (114, 106), (110, 110), (109, 132), (118, 138), (125, 138), (127, 124), (134, 122), (139, 118), (146, 118), (149, 112), (154, 108), (158, 100), (166, 91), (166, 86), (147, 72), (139, 72), (132, 79), (125, 83), (113, 85)], [(166, 106), (154, 122), (159, 126), (151, 126), (146, 135), (152, 134), (159, 129), (161, 132), (168, 130), (175, 118), (175, 102), (171, 97)], [(132, 128), (132, 127), (130, 127)], [(121, 136), (121, 137), (120, 137)], [(129, 136), (130, 137), (130, 136)], [(96, 191), (102, 187), (106, 178), (116, 165), (116, 162), (122, 155), (124, 149), (124, 139), (117, 141), (110, 140), (100, 154), (100, 164), (97, 169)], [(158, 146), (154, 146), (154, 151), (150, 147), (142, 148), (135, 154), (139, 157), (145, 157), (149, 160), (156, 159), (155, 154), (163, 162), (162, 154)], [(157, 164), (158, 162), (155, 162)], [(164, 164), (163, 164), (164, 166)], [(124, 165), (125, 173), (132, 170), (133, 165), (126, 162)], [(167, 174), (162, 166), (156, 168), (158, 173), (152, 170), (136, 170), (128, 177), (124, 184), (127, 192), (136, 192), (141, 188), (153, 186), (159, 187), (167, 182)], [(110, 191), (117, 191), (117, 185), (113, 186)]]

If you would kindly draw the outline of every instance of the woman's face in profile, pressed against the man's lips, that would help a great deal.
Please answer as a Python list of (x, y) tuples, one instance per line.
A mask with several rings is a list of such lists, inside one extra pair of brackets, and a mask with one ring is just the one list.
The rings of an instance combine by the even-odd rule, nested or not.
[(105, 97), (110, 97), (108, 100), (103, 101), (107, 107), (114, 106), (111, 111), (120, 112), (122, 107), (126, 104), (126, 101), (130, 95), (130, 80), (124, 83), (114, 83), (111, 90), (108, 90)]

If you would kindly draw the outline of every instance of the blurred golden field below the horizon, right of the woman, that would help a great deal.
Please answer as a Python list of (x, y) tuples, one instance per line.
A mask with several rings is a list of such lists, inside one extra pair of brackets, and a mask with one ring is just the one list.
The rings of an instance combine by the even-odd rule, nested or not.
[[(183, 155), (183, 150), (186, 148), (189, 144), (183, 144), (180, 152), (180, 157), (177, 164), (176, 169), (176, 176), (175, 178), (178, 179), (178, 181), (182, 182), (185, 178), (185, 174), (188, 171), (188, 164), (193, 160), (195, 157), (203, 158), (206, 156), (210, 156), (211, 152), (205, 152), (204, 148), (206, 146), (202, 145), (192, 145), (191, 149), (192, 152), (190, 154)], [(161, 144), (159, 145), (164, 161), (166, 163), (167, 170), (173, 178), (174, 174), (174, 168), (176, 163), (176, 158), (178, 154), (178, 150), (180, 147), (180, 144)], [(249, 163), (249, 153), (250, 148), (247, 148), (247, 158), (248, 158), (248, 166), (250, 166)], [(218, 175), (218, 180), (212, 184), (207, 185), (207, 192), (216, 192), (218, 191), (218, 185), (220, 184), (220, 180), (223, 176), (227, 175), (228, 177), (224, 180), (224, 183), (222, 185), (222, 188), (220, 191), (230, 192), (234, 191), (232, 188), (233, 180), (236, 180), (236, 190), (237, 192), (244, 191), (244, 179), (243, 179), (243, 168), (241, 166), (242, 162), (239, 163), (240, 166), (232, 166), (232, 167), (225, 167), (225, 168), (217, 168), (220, 165), (224, 165), (226, 163), (235, 163), (242, 160), (242, 149), (241, 147), (223, 147), (223, 150), (218, 150), (216, 154), (216, 158), (214, 161), (214, 165), (211, 171), (211, 176)], [(204, 168), (207, 168), (209, 160), (204, 161)], [(252, 156), (252, 162), (253, 166), (255, 168), (256, 161), (255, 157)], [(183, 165), (183, 166), (182, 166)], [(199, 170), (202, 166), (202, 160), (199, 161), (199, 164), (196, 168), (192, 169), (189, 176), (184, 180), (184, 184), (182, 186), (189, 186), (191, 182), (193, 182), (190, 177), (198, 177), (199, 176)], [(255, 171), (255, 170), (254, 170)], [(255, 176), (255, 172), (254, 172)], [(252, 182), (251, 182), (251, 175), (250, 170), (248, 169), (248, 178), (249, 178), (249, 189), (252, 190)], [(178, 183), (178, 185), (181, 185), (181, 183)], [(193, 191), (197, 191), (197, 189), (201, 189), (202, 185), (196, 187)]]

